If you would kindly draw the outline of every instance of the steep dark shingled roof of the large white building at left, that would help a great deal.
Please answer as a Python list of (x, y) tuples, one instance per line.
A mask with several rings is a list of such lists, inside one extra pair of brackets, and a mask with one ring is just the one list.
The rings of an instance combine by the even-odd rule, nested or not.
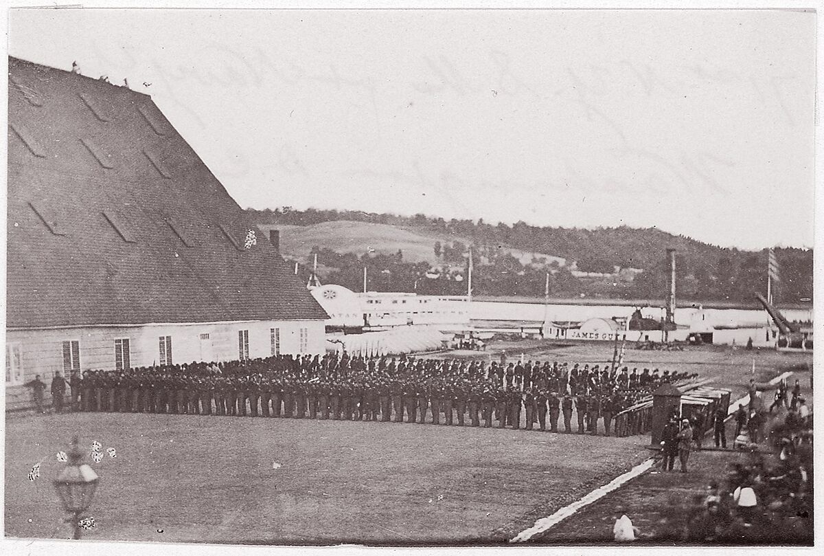
[(15, 58), (8, 85), (8, 328), (327, 318), (150, 97)]

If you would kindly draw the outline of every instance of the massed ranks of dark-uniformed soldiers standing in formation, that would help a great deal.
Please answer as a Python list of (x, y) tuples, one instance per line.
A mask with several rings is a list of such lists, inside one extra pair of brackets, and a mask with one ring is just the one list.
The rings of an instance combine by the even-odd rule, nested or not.
[[(71, 408), (85, 412), (430, 422), (541, 431), (559, 431), (563, 417), (565, 432), (577, 425), (578, 433), (597, 433), (602, 419), (609, 435), (616, 413), (663, 383), (694, 377), (558, 361), (487, 364), (327, 354), (75, 371), (68, 389)], [(62, 406), (63, 394), (54, 397), (55, 381), (62, 383), (63, 393), (66, 382), (59, 373), (53, 380), (59, 410), (57, 400)]]

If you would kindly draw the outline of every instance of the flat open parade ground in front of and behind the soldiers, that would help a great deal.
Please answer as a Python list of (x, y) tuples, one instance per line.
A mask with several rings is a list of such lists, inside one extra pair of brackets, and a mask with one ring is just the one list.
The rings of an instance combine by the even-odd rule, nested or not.
[[(601, 362), (604, 345), (494, 344), (486, 353)], [(627, 365), (689, 370), (746, 392), (809, 354), (627, 351)], [(6, 534), (66, 538), (51, 478), (73, 434), (117, 457), (87, 538), (263, 544), (494, 544), (646, 459), (648, 436), (605, 438), (418, 424), (78, 413), (7, 415)], [(40, 478), (30, 482), (41, 460)], [(282, 466), (273, 469), (273, 462)], [(599, 517), (598, 519), (601, 519)], [(564, 525), (563, 523), (561, 525)], [(569, 526), (569, 525), (567, 525)], [(552, 542), (549, 535), (545, 541)], [(573, 538), (569, 538), (574, 542)], [(562, 541), (563, 542), (563, 541)]]

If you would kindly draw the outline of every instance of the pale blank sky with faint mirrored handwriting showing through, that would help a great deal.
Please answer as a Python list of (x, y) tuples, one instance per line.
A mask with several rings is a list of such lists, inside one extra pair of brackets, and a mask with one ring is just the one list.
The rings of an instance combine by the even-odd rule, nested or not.
[(13, 56), (151, 94), (244, 207), (813, 243), (812, 12), (28, 9), (9, 26)]

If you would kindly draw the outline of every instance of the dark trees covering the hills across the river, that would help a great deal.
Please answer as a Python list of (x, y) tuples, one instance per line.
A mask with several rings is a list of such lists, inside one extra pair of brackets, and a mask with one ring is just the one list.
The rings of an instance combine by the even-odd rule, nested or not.
[[(465, 275), (469, 246), (473, 246), (475, 266), (473, 293), (476, 295), (544, 294), (546, 273), (550, 272), (553, 297), (662, 299), (667, 291), (669, 267), (666, 249), (677, 250), (677, 290), (681, 299), (695, 301), (736, 301), (752, 303), (753, 292), (766, 290), (766, 250), (746, 251), (719, 247), (684, 235), (659, 229), (555, 228), (515, 224), (487, 224), (483, 219), (442, 219), (414, 214), (375, 214), (349, 210), (249, 210), (257, 224), (311, 225), (335, 220), (390, 224), (422, 232), (439, 233), (449, 241), (433, 244), (430, 262), (405, 262), (402, 252), (372, 253), (358, 257), (316, 247), (324, 266), (326, 281), (353, 290), (363, 288), (363, 266), (368, 267), (368, 288), (382, 291), (413, 291), (422, 294), (466, 293)], [(508, 249), (563, 257), (576, 270), (597, 272), (608, 277), (576, 277), (568, 266), (541, 262), (540, 256), (526, 264)], [(775, 299), (797, 302), (812, 299), (812, 249), (778, 247), (780, 283), (774, 284)], [(441, 267), (440, 272), (430, 272)], [(630, 275), (615, 274), (620, 269), (641, 269)], [(429, 275), (429, 277), (427, 276)], [(438, 275), (437, 278), (432, 276)]]

